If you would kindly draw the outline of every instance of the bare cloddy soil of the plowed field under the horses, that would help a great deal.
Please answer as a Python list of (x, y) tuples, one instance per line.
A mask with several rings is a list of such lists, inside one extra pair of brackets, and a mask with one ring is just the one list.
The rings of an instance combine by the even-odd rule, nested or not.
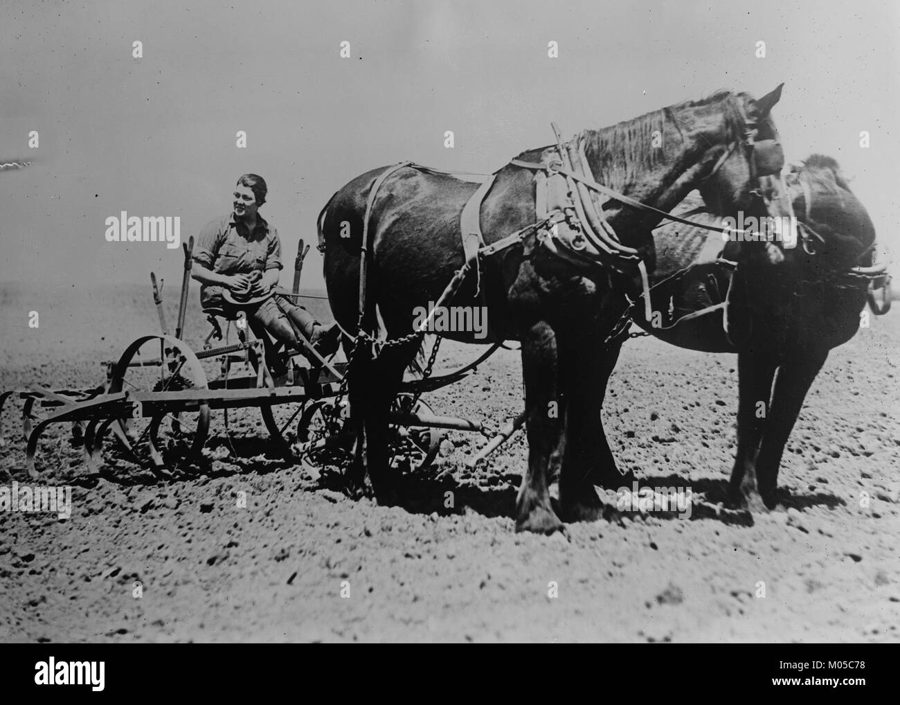
[[(28, 328), (31, 310), (39, 329)], [(188, 338), (205, 329), (192, 308)], [(6, 287), (0, 330), (0, 387), (60, 388), (98, 384), (97, 361), (157, 321), (145, 287)], [(438, 366), (478, 349), (445, 343)], [(524, 434), (471, 470), (483, 438), (451, 433), (433, 468), (404, 475), (406, 505), (384, 508), (348, 499), (333, 474), (279, 460), (254, 409), (230, 419), (239, 457), (213, 438), (219, 459), (206, 474), (168, 482), (125, 469), (85, 480), (59, 428), (39, 468), (47, 484), (73, 485), (72, 516), (0, 512), (0, 641), (894, 642), (898, 349), (894, 313), (833, 351), (788, 442), (777, 511), (703, 505), (678, 519), (619, 512), (605, 493), (608, 519), (570, 525), (568, 540), (514, 531)], [(628, 343), (604, 408), (619, 464), (642, 484), (721, 502), (735, 363)], [(518, 353), (500, 351), (428, 402), (499, 426), (522, 406)], [(4, 485), (31, 484), (20, 408), (3, 413)]]

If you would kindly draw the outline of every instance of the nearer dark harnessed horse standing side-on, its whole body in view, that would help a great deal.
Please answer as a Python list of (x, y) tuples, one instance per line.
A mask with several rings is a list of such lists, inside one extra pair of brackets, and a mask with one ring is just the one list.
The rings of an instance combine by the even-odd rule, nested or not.
[[(762, 171), (753, 140), (776, 137), (770, 110), (780, 87), (759, 101), (720, 92), (584, 131), (590, 173), (600, 184), (665, 212), (694, 188), (720, 212), (747, 209)], [(544, 149), (524, 152), (519, 159), (539, 162)], [(780, 166), (763, 173), (778, 172)], [(377, 328), (388, 339), (399, 339), (413, 330), (413, 310), (437, 301), (463, 266), (460, 215), (476, 185), (401, 167), (373, 194), (384, 172), (379, 168), (357, 176), (331, 198), (320, 216), (320, 244), (331, 310), (342, 327), (356, 331), (361, 319), (363, 330)], [(496, 173), (480, 210), (486, 243), (536, 222), (535, 188), (534, 172), (527, 168), (509, 164)], [(652, 230), (661, 215), (616, 200), (604, 203), (603, 211), (622, 244), (635, 248), (652, 268)], [(365, 227), (369, 267), (365, 310), (359, 312)], [(610, 331), (626, 312), (624, 293), (634, 289), (634, 272), (575, 264), (529, 235), (521, 246), (484, 258), (479, 276), (467, 276), (449, 302), (486, 306), (489, 338), (465, 331), (447, 337), (521, 342), (529, 452), (518, 493), (518, 530), (562, 529), (547, 491), (548, 474), (560, 476), (563, 519), (590, 519), (602, 508), (589, 476), (603, 452), (599, 406), (606, 377), (599, 361)], [(371, 345), (358, 345), (351, 356), (348, 394), (357, 443), (350, 477), (361, 485), (367, 469), (379, 502), (398, 499), (388, 466), (388, 411), (418, 348), (415, 341), (374, 355)]]

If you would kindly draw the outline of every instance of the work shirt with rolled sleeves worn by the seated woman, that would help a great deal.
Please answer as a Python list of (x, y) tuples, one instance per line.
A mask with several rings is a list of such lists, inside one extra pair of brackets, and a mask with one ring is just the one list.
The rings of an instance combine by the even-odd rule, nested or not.
[[(281, 240), (278, 230), (257, 213), (257, 227), (251, 233), (232, 212), (215, 218), (200, 231), (193, 248), (193, 261), (222, 275), (249, 274), (254, 270), (281, 269)], [(220, 310), (222, 286), (202, 285), (200, 303), (204, 310)]]

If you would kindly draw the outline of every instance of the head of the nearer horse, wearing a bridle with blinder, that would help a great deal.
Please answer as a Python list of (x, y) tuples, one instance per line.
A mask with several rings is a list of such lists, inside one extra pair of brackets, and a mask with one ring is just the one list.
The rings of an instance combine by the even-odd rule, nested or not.
[[(741, 93), (725, 94), (710, 103), (708, 131), (701, 133), (706, 153), (700, 162), (699, 189), (711, 210), (761, 208), (760, 179), (778, 175), (784, 167), (784, 152), (771, 118), (783, 85), (759, 100)], [(772, 194), (773, 200), (779, 195)]]

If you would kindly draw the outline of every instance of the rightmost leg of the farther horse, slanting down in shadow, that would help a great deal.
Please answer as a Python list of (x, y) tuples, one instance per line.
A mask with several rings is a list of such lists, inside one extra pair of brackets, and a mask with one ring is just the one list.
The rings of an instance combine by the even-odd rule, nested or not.
[(776, 490), (779, 482), (779, 465), (785, 444), (794, 429), (797, 416), (806, 399), (806, 393), (815, 375), (825, 364), (828, 350), (816, 351), (800, 358), (788, 358), (779, 367), (775, 380), (775, 392), (769, 410), (769, 422), (762, 433), (760, 452), (756, 456), (756, 472), (760, 484), (762, 502), (772, 509), (778, 503)]

